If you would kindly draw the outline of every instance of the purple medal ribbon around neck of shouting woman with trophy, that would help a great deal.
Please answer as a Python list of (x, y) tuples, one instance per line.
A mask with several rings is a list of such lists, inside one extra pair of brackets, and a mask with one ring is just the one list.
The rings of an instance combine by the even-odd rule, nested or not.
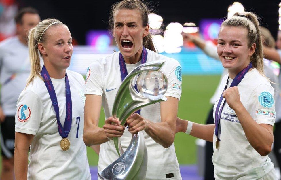
[[(147, 60), (147, 50), (145, 49), (145, 47), (143, 47), (143, 52), (141, 54), (141, 64), (146, 63)], [(121, 72), (121, 80), (123, 82), (123, 80), (125, 79), (125, 77), (128, 75), (127, 69), (126, 69), (126, 65), (125, 65), (125, 61), (124, 58), (121, 54), (121, 52), (119, 53), (119, 65), (120, 65), (120, 72)], [(135, 84), (135, 89), (138, 92), (138, 88)], [(138, 111), (136, 111), (136, 113), (140, 114), (140, 109)]]

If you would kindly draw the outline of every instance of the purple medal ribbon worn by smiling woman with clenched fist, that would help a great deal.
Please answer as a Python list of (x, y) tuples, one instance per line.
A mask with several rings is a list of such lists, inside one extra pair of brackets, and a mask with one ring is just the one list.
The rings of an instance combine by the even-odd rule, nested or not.
[[(253, 67), (252, 65), (252, 62), (250, 62), (250, 64), (245, 68), (243, 69), (242, 71), (240, 71), (240, 73), (238, 73), (235, 78), (233, 79), (233, 82), (231, 83), (231, 85), (229, 87), (233, 87), (233, 86), (237, 86), (241, 81), (242, 79), (244, 78), (245, 74), (249, 71), (249, 69), (251, 69)], [(229, 79), (229, 77), (228, 77)], [(228, 85), (228, 79), (227, 79), (227, 83), (225, 85), (225, 88), (224, 90), (227, 88), (227, 85)], [(223, 91), (224, 91), (223, 90)], [(219, 99), (219, 102), (217, 104), (217, 107), (216, 107), (216, 112), (215, 112), (215, 135), (217, 137), (217, 139), (219, 141), (221, 141), (221, 112), (223, 110), (223, 106), (225, 104), (225, 101), (223, 101), (223, 105), (221, 106), (221, 102), (223, 101), (223, 94), (221, 94), (221, 97)], [(219, 107), (221, 106), (221, 109), (219, 109)]]

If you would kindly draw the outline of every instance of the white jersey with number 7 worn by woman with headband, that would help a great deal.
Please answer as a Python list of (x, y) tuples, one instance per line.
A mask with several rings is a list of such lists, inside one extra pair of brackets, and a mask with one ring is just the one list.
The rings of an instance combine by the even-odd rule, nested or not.
[[(69, 150), (62, 151), (60, 148), (62, 137), (58, 133), (56, 113), (43, 80), (36, 77), (33, 83), (22, 91), (18, 99), (16, 132), (35, 135), (29, 153), (29, 180), (91, 179), (86, 145), (82, 138), (84, 79), (73, 71), (66, 72), (69, 77), (72, 101), (72, 123), (67, 137), (71, 143)], [(63, 126), (66, 115), (65, 77), (51, 79)]]

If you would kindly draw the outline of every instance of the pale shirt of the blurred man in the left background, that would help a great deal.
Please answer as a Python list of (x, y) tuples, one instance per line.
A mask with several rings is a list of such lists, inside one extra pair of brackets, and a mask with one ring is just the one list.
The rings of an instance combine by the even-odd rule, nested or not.
[[(21, 43), (17, 36), (2, 41), (0, 43), (1, 106), (6, 116), (16, 114), (18, 96), (25, 88), (29, 73), (28, 47)], [(12, 80), (3, 84), (10, 77)]]

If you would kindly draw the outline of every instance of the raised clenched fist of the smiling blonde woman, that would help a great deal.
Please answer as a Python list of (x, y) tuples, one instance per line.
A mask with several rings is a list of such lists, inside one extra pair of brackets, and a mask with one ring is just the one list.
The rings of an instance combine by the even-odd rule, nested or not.
[(223, 98), (225, 98), (225, 101), (227, 102), (229, 107), (234, 111), (236, 110), (237, 107), (242, 105), (240, 101), (240, 94), (236, 86), (224, 90)]

